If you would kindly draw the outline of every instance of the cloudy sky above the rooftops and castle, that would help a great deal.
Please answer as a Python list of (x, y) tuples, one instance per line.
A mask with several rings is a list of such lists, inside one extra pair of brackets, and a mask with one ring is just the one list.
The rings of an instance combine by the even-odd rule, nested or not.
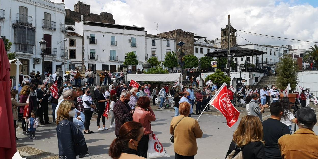
[[(65, 0), (73, 10), (78, 0)], [(231, 14), (232, 26), (242, 31), (276, 37), (318, 42), (318, 1), (316, 0), (82, 0), (91, 12), (114, 15), (115, 24), (145, 27), (149, 34), (174, 29), (194, 32), (208, 40), (220, 38), (220, 30)], [(282, 41), (238, 31), (238, 35), (259, 45), (293, 45), (308, 49), (318, 43)], [(238, 36), (238, 44), (248, 44)]]

